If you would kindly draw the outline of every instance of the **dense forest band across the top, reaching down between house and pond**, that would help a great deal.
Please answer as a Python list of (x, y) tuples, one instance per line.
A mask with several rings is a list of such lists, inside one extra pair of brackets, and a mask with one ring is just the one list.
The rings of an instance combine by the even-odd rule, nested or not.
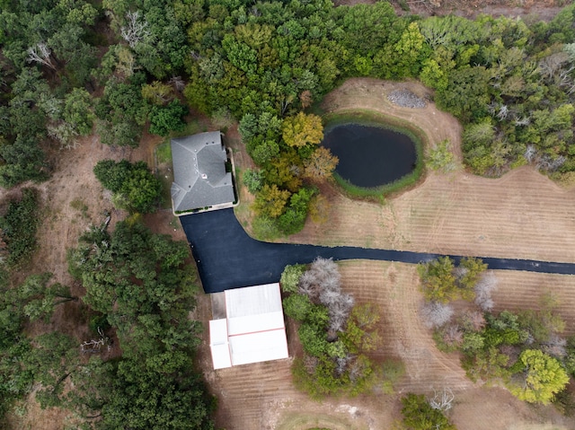
[[(188, 106), (239, 121), (259, 166), (246, 175), (279, 234), (302, 228), (333, 169), (321, 121), (302, 113), (350, 76), (420, 79), (464, 124), (464, 159), (498, 176), (533, 163), (575, 171), (575, 30), (552, 22), (397, 16), (386, 3), (4, 1), (0, 183), (49, 175), (43, 147), (135, 146), (180, 129)], [(271, 204), (270, 204), (271, 202)], [(270, 210), (259, 207), (271, 207)]]

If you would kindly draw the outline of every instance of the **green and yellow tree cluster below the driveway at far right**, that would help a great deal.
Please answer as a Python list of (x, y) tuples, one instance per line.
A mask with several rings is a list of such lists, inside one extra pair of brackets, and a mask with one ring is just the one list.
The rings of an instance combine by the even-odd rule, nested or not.
[[(434, 329), (439, 349), (461, 352), (473, 381), (500, 381), (518, 399), (549, 403), (565, 389), (575, 362), (553, 295), (544, 294), (538, 311), (492, 313), (497, 280), (485, 268), (479, 259), (462, 259), (456, 268), (447, 257), (420, 266), (421, 287), (432, 300), (423, 305), (423, 322)], [(458, 298), (475, 307), (456, 313), (449, 301)]]

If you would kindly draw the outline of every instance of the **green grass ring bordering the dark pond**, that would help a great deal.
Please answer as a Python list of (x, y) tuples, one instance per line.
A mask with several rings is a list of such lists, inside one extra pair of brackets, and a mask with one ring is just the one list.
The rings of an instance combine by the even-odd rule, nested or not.
[(336, 183), (349, 197), (366, 198), (383, 203), (385, 201), (385, 197), (399, 191), (403, 191), (404, 189), (414, 187), (423, 180), (425, 176), (423, 148), (429, 144), (429, 139), (420, 127), (417, 127), (404, 119), (390, 117), (372, 110), (345, 110), (338, 113), (324, 115), (323, 119), (325, 121), (323, 132), (326, 134), (336, 126), (345, 124), (361, 124), (364, 126), (380, 127), (402, 133), (409, 136), (415, 145), (415, 152), (417, 154), (415, 168), (410, 174), (403, 176), (403, 178), (400, 178), (399, 180), (394, 180), (394, 182), (389, 184), (375, 188), (363, 188), (351, 184), (349, 180), (344, 180), (339, 174), (334, 173), (333, 178)]

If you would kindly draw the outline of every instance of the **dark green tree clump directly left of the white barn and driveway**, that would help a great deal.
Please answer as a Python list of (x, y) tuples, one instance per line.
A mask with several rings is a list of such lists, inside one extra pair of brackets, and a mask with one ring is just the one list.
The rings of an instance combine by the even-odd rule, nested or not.
[(213, 428), (214, 399), (192, 362), (200, 327), (189, 318), (197, 292), (189, 256), (185, 242), (127, 222), (111, 234), (93, 228), (70, 251), (84, 303), (105, 315), (122, 350), (82, 364), (72, 375), (79, 392), (65, 395), (84, 416), (102, 416), (97, 428)]

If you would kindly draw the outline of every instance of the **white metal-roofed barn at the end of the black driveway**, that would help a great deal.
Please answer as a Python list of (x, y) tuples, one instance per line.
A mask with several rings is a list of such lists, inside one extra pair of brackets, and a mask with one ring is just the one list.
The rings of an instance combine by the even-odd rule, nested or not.
[(214, 369), (288, 358), (279, 284), (226, 290), (226, 318), (209, 321)]

